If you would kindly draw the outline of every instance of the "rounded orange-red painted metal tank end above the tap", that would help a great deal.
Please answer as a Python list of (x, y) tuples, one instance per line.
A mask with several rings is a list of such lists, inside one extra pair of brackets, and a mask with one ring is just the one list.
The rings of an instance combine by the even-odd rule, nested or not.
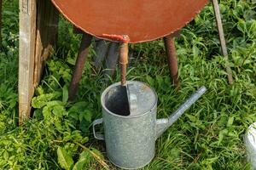
[[(128, 35), (131, 43), (166, 37), (195, 17), (207, 0), (52, 0), (81, 30)], [(104, 37), (108, 39), (107, 37)]]

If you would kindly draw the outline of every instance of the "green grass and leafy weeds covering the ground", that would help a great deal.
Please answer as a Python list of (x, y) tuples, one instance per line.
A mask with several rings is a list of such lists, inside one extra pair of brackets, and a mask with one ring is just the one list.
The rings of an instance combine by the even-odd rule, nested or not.
[[(156, 90), (158, 117), (175, 111), (196, 88), (208, 88), (207, 94), (157, 140), (156, 156), (144, 169), (249, 169), (243, 134), (256, 121), (256, 3), (223, 0), (220, 9), (235, 80), (232, 86), (227, 82), (211, 5), (176, 39), (180, 91), (171, 86), (164, 43), (135, 45), (137, 58), (128, 78), (147, 82)], [(83, 169), (103, 169), (105, 162), (110, 169), (115, 168), (106, 159), (104, 144), (93, 139), (90, 123), (101, 117), (102, 90), (118, 82), (119, 76), (108, 84), (103, 82), (101, 71), (93, 69), (90, 53), (77, 101), (67, 102), (67, 86), (80, 40), (72, 29), (61, 19), (55, 54), (47, 61), (44, 78), (32, 100), (33, 119), (16, 127), (18, 0), (3, 1), (0, 169), (61, 169), (76, 162)]]

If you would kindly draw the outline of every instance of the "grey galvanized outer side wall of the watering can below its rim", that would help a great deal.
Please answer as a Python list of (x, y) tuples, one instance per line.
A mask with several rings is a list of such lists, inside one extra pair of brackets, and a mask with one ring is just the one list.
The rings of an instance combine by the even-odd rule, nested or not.
[(140, 168), (154, 158), (156, 107), (143, 116), (123, 119), (103, 111), (109, 161), (117, 167)]

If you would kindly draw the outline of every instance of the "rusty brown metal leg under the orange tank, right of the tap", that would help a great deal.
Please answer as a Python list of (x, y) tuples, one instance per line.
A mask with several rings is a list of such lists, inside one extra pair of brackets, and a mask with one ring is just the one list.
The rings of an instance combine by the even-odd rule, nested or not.
[(168, 65), (170, 70), (170, 75), (172, 78), (172, 83), (175, 87), (179, 88), (179, 80), (177, 77), (178, 66), (177, 66), (177, 55), (173, 35), (166, 36), (164, 38), (166, 46), (166, 55), (168, 59)]

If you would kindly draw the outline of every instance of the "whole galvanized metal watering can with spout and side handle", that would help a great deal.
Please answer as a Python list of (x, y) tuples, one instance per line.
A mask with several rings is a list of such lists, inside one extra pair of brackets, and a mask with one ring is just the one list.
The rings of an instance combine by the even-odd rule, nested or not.
[[(93, 122), (96, 139), (105, 140), (108, 159), (117, 167), (136, 169), (146, 166), (154, 158), (155, 140), (183, 115), (207, 91), (199, 88), (172, 116), (156, 119), (157, 94), (143, 82), (127, 82), (130, 115), (124, 111), (120, 83), (114, 83), (102, 93), (102, 118)], [(102, 124), (104, 134), (96, 133)]]

